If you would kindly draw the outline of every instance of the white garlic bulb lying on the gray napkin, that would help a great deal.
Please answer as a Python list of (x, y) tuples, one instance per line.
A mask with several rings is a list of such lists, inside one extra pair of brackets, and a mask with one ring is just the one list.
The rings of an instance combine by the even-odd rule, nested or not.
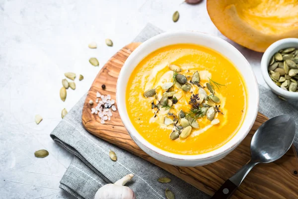
[(133, 174), (128, 174), (118, 180), (115, 184), (102, 186), (96, 192), (94, 199), (136, 199), (133, 190), (124, 186), (133, 177)]

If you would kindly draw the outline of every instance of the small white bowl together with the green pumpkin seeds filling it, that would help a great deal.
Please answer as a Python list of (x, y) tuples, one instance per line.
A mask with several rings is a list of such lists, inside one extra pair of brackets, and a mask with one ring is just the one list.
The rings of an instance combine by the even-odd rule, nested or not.
[(266, 84), (283, 100), (298, 104), (298, 39), (274, 42), (265, 51), (261, 70)]

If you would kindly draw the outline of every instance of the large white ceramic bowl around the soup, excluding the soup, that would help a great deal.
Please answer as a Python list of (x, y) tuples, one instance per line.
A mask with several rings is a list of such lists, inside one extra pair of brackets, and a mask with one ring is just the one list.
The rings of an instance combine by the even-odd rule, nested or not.
[[(222, 147), (200, 155), (177, 155), (163, 151), (145, 140), (129, 119), (126, 107), (126, 87), (131, 73), (151, 52), (171, 44), (192, 43), (214, 49), (229, 59), (242, 74), (247, 88), (247, 110), (239, 131)], [(224, 66), (223, 66), (224, 67)], [(132, 139), (151, 157), (176, 166), (198, 166), (213, 163), (236, 148), (251, 129), (258, 112), (259, 90), (254, 73), (244, 56), (223, 39), (193, 31), (174, 31), (159, 34), (141, 44), (126, 60), (121, 69), (116, 91), (118, 110)], [(210, 138), (212, 139), (212, 138)]]

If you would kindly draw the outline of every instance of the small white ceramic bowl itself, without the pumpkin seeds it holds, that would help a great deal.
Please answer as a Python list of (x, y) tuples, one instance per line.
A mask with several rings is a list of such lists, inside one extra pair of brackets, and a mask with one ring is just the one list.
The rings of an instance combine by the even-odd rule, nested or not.
[(271, 57), (279, 50), (290, 47), (298, 48), (297, 38), (281, 39), (271, 44), (271, 46), (269, 46), (263, 54), (261, 61), (261, 70), (266, 84), (270, 87), (273, 93), (282, 96), (286, 100), (289, 100), (290, 102), (294, 102), (296, 104), (298, 103), (298, 93), (283, 90), (270, 79), (270, 76), (268, 74), (268, 65)]

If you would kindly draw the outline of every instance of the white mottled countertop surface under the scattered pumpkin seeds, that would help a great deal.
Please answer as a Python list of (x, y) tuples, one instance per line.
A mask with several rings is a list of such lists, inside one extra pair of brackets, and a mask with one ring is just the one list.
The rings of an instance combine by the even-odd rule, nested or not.
[[(180, 12), (174, 23), (172, 14)], [(214, 26), (206, 0), (0, 0), (0, 199), (73, 198), (58, 188), (72, 155), (50, 138), (61, 120), (88, 91), (101, 66), (150, 22), (163, 30), (197, 30), (226, 39)], [(107, 47), (111, 38), (113, 47)], [(226, 39), (228, 40), (228, 39)], [(88, 43), (97, 42), (97, 49)], [(228, 40), (229, 41), (229, 40)], [(235, 45), (249, 60), (259, 84), (261, 53)], [(100, 67), (89, 64), (97, 57)], [(65, 72), (75, 79), (65, 102), (59, 90)], [(37, 125), (35, 114), (43, 116)], [(34, 152), (47, 149), (39, 159)]]

